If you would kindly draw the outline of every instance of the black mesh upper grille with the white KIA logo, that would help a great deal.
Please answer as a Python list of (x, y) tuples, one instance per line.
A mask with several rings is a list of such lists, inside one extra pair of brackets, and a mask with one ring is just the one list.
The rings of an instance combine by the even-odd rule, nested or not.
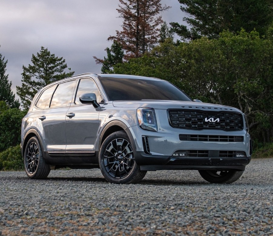
[(169, 109), (169, 124), (181, 129), (242, 130), (243, 117), (239, 112)]

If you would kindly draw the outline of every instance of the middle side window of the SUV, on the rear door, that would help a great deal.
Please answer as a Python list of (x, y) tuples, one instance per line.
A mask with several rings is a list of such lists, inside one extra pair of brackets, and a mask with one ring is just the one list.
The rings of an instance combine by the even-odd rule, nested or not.
[(53, 94), (50, 107), (69, 106), (72, 100), (76, 80), (59, 84)]

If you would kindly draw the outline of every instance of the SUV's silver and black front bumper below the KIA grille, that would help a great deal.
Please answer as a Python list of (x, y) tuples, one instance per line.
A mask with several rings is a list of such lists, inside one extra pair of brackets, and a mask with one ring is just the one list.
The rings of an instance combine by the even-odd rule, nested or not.
[[(252, 142), (246, 131), (182, 130), (168, 127), (158, 132), (131, 127), (135, 160), (141, 170), (245, 170), (251, 160)], [(181, 134), (204, 136), (206, 141), (181, 140)], [(180, 135), (180, 136), (179, 136)], [(212, 135), (212, 136), (211, 136)], [(215, 136), (220, 138), (215, 141)], [(238, 137), (239, 138), (235, 138)], [(210, 139), (213, 137), (213, 139)], [(222, 140), (226, 137), (230, 140)], [(201, 140), (202, 140), (201, 139)], [(184, 153), (175, 156), (174, 153)]]

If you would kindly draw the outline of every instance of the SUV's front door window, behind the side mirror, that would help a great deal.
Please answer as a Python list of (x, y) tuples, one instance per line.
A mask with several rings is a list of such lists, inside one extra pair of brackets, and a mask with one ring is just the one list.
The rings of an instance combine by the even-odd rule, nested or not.
[(76, 104), (82, 104), (80, 102), (80, 96), (84, 93), (94, 93), (97, 97), (97, 102), (101, 102), (102, 98), (100, 96), (100, 91), (97, 88), (97, 85), (93, 80), (90, 79), (81, 79), (80, 84), (78, 86), (77, 94), (76, 94)]

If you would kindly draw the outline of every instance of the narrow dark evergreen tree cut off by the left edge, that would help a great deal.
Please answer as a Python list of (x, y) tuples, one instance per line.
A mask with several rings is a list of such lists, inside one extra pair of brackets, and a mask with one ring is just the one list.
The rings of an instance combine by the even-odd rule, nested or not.
[(0, 101), (4, 101), (10, 108), (19, 108), (20, 103), (15, 100), (15, 94), (13, 94), (11, 86), (12, 82), (8, 81), (8, 75), (6, 73), (6, 65), (8, 60), (5, 61), (5, 57), (0, 53)]

